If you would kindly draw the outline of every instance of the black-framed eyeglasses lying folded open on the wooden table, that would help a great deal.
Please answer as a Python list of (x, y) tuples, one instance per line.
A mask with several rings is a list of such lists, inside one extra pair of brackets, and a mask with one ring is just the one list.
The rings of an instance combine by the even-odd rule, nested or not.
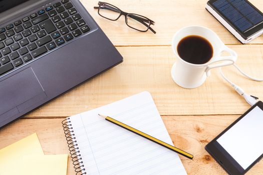
[(98, 2), (99, 6), (94, 6), (95, 9), (98, 9), (99, 15), (105, 17), (106, 19), (110, 20), (118, 20), (121, 15), (125, 16), (126, 24), (138, 31), (148, 31), (150, 29), (153, 33), (156, 33), (154, 29), (150, 25), (154, 25), (154, 21), (149, 19), (148, 17), (134, 14), (134, 13), (127, 13), (122, 11), (120, 8), (107, 3), (107, 2)]

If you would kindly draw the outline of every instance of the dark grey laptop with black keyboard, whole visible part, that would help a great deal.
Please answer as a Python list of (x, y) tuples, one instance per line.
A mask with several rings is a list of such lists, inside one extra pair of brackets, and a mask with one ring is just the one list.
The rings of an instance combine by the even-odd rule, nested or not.
[(79, 0), (0, 0), (0, 127), (122, 60)]

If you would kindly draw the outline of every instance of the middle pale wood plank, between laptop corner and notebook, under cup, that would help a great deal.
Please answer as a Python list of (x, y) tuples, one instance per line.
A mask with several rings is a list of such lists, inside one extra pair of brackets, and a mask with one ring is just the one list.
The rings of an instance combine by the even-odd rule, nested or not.
[[(239, 57), (237, 64), (254, 76), (263, 75), (263, 45), (231, 45)], [(129, 95), (151, 92), (162, 115), (241, 114), (249, 108), (220, 76), (212, 71), (195, 89), (175, 84), (170, 69), (175, 56), (170, 46), (119, 47), (124, 62), (40, 107), (28, 117), (65, 117), (99, 107)], [(248, 94), (263, 99), (262, 82), (244, 78), (231, 67), (226, 76)]]

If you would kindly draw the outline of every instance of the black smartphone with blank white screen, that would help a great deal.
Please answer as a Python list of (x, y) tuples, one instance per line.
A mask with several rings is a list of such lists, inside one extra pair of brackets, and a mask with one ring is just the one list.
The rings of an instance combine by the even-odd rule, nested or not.
[(228, 174), (245, 174), (263, 157), (263, 102), (254, 104), (205, 150)]

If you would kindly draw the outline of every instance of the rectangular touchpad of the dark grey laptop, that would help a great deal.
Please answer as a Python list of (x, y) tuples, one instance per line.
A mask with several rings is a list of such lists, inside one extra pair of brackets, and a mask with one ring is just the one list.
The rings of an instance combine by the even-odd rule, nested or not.
[(47, 97), (32, 67), (0, 82), (0, 122)]

